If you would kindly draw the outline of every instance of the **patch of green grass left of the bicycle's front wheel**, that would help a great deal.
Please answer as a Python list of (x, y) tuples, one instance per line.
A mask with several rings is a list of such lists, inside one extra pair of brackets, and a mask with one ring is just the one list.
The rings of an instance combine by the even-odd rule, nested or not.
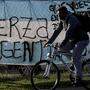
[(30, 79), (16, 75), (8, 74), (0, 78), (0, 90), (30, 90)]

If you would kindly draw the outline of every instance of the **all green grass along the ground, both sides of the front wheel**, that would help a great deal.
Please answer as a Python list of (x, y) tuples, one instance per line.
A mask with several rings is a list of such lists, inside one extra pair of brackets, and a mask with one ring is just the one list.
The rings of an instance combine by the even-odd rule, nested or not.
[[(90, 85), (90, 77), (85, 77), (84, 80)], [(52, 81), (48, 85), (51, 83)], [(45, 83), (37, 81), (37, 84), (42, 86)], [(69, 87), (71, 85), (68, 72), (62, 72), (59, 84), (61, 87)], [(16, 73), (0, 73), (0, 90), (32, 90), (30, 77)]]

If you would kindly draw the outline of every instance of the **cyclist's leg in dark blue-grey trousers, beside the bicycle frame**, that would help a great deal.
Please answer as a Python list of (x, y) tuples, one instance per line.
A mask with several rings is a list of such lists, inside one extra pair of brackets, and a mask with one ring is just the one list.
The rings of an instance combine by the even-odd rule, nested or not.
[(73, 61), (77, 69), (77, 76), (80, 78), (82, 78), (81, 56), (88, 42), (89, 42), (88, 40), (79, 41), (77, 42), (76, 46), (73, 49)]

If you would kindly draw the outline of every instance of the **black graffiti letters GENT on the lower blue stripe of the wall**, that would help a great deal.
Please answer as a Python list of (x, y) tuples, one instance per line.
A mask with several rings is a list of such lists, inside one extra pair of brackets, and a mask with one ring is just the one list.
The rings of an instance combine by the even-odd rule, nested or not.
[[(24, 42), (1, 41), (0, 42), (0, 46), (1, 46), (0, 60), (6, 59), (9, 62), (9, 59), (12, 59), (12, 61), (13, 59), (16, 59), (16, 60), (22, 59), (22, 62), (25, 62), (27, 61), (27, 59), (29, 59), (29, 62), (31, 62), (33, 60), (32, 57), (34, 57), (36, 53), (41, 53), (40, 56), (38, 57), (40, 60), (43, 53), (42, 42), (44, 41), (38, 41), (38, 42), (32, 42), (32, 43), (29, 43), (27, 41), (24, 41)], [(39, 45), (38, 49), (40, 49), (41, 52), (34, 50), (36, 49), (35, 47), (37, 47), (36, 45)], [(30, 46), (32, 47), (30, 48)]]

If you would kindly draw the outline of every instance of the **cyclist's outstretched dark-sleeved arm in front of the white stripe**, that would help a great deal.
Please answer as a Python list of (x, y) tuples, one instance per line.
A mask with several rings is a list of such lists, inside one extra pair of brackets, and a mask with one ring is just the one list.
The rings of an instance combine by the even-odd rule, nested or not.
[(53, 35), (51, 36), (51, 38), (49, 39), (49, 41), (47, 42), (47, 44), (51, 44), (54, 42), (54, 40), (56, 39), (56, 37), (59, 35), (59, 33), (63, 30), (63, 23), (62, 21), (59, 24), (59, 27), (57, 28), (57, 30), (54, 31)]

